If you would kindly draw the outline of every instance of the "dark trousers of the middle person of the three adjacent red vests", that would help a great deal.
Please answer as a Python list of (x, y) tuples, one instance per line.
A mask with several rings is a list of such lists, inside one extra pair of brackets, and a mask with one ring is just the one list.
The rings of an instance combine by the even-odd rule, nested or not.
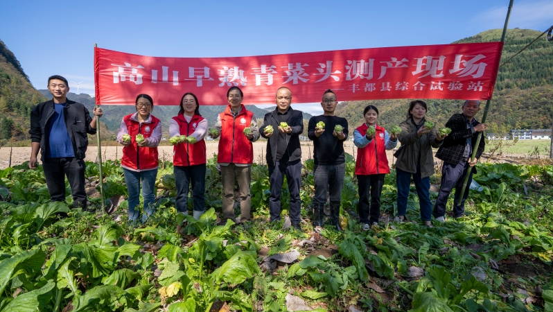
[(194, 211), (204, 211), (205, 171), (206, 164), (173, 167), (175, 184), (177, 185), (177, 198), (175, 200), (177, 211), (188, 214), (188, 189), (190, 184), (192, 184)]

